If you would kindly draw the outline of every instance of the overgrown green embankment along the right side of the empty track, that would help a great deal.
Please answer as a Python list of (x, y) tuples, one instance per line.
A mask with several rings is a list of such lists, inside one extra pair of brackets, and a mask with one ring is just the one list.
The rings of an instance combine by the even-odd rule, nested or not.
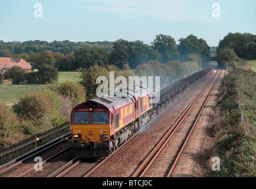
[(212, 177), (256, 175), (256, 73), (232, 67), (224, 77), (222, 99), (216, 106), (213, 157), (219, 170)]

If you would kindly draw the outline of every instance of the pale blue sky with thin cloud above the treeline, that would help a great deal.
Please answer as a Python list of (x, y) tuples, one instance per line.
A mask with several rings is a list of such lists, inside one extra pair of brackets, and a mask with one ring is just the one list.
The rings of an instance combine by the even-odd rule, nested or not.
[[(43, 17), (36, 18), (36, 3)], [(219, 4), (220, 17), (212, 12)], [(255, 0), (8, 0), (0, 2), (0, 40), (128, 41), (193, 34), (217, 46), (228, 32), (256, 34)]]

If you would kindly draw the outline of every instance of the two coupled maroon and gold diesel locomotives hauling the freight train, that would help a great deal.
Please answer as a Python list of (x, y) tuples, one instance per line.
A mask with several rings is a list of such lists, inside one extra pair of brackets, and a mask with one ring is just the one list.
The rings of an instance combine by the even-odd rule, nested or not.
[(74, 107), (74, 154), (79, 158), (101, 158), (115, 151), (152, 118), (152, 95), (148, 88), (135, 86)]

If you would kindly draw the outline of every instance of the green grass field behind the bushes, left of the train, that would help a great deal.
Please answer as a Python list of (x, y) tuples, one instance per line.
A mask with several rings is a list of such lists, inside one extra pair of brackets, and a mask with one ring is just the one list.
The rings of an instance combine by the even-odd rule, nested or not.
[[(78, 82), (80, 73), (77, 71), (60, 71), (57, 83), (64, 83), (67, 80)], [(27, 93), (36, 93), (40, 90), (49, 90), (46, 84), (0, 84), (0, 102), (8, 106), (13, 105), (20, 97)]]

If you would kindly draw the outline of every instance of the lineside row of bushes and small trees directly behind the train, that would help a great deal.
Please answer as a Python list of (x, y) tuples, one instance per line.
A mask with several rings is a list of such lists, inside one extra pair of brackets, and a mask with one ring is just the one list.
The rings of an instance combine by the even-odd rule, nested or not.
[[(189, 54), (186, 57), (184, 63), (180, 63), (180, 61), (172, 60), (168, 61), (168, 63), (160, 63), (159, 61), (149, 61), (146, 64), (140, 64), (136, 67), (135, 70), (120, 70), (119, 67), (114, 65), (100, 66), (95, 64), (94, 66), (90, 66), (88, 69), (79, 69), (81, 72), (81, 84), (87, 90), (88, 99), (92, 99), (96, 96), (97, 87), (103, 83), (96, 83), (95, 81), (99, 76), (105, 76), (108, 81), (110, 81), (110, 71), (114, 71), (114, 77), (117, 78), (119, 76), (126, 77), (127, 87), (129, 86), (129, 77), (130, 76), (160, 76), (160, 84), (166, 83), (166, 78), (169, 77), (169, 80), (177, 79), (178, 77), (184, 76), (185, 74), (191, 73), (200, 69), (201, 63), (199, 60), (199, 56), (194, 54)], [(125, 64), (127, 65), (127, 64)], [(154, 78), (153, 78), (154, 80)], [(155, 81), (155, 80), (154, 80)], [(153, 81), (153, 86), (155, 82)], [(123, 82), (123, 81), (122, 81)], [(121, 82), (121, 83), (122, 83)], [(104, 83), (106, 84), (106, 83)], [(115, 83), (115, 87), (119, 86), (120, 83)], [(124, 84), (124, 83), (122, 83)], [(134, 83), (135, 84), (135, 83)], [(107, 83), (107, 89), (110, 89), (110, 83)], [(148, 83), (149, 86), (149, 83)], [(109, 92), (109, 91), (108, 91)]]

